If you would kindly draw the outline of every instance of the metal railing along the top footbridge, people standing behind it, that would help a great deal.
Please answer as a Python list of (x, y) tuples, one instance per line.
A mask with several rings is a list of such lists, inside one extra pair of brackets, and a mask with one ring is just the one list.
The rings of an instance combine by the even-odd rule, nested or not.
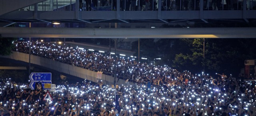
[[(75, 10), (76, 0), (47, 0), (38, 3), (38, 11)], [(203, 0), (203, 10), (243, 10), (243, 0)], [(200, 0), (120, 0), (121, 11), (200, 10)], [(256, 0), (246, 1), (247, 10), (256, 10)], [(79, 0), (79, 10), (116, 10), (116, 0)], [(34, 10), (34, 5), (20, 10)]]

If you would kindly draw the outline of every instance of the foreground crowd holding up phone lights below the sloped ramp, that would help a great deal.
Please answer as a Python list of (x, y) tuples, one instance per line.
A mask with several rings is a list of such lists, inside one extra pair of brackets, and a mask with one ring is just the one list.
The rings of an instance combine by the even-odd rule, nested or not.
[(51, 92), (53, 100), (42, 100), (45, 92), (29, 84), (11, 79), (0, 84), (3, 116), (255, 116), (256, 111), (255, 81), (232, 76), (195, 76), (156, 86), (138, 82), (116, 90), (101, 82), (65, 83)]

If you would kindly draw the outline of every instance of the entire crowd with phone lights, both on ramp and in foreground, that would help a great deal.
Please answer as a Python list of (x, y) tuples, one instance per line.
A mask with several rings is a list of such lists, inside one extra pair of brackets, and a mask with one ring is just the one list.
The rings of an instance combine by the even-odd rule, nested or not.
[[(18, 52), (28, 53), (27, 42), (16, 42)], [(114, 58), (88, 50), (32, 42), (32, 54), (90, 70), (114, 72)], [(2, 80), (2, 115), (63, 116), (255, 116), (256, 84), (242, 76), (209, 76), (179, 72), (168, 67), (140, 64), (118, 58), (118, 75), (134, 84), (108, 85), (82, 82), (58, 85), (53, 100), (42, 100), (45, 92), (31, 90), (29, 84)], [(116, 93), (116, 94), (115, 94)]]

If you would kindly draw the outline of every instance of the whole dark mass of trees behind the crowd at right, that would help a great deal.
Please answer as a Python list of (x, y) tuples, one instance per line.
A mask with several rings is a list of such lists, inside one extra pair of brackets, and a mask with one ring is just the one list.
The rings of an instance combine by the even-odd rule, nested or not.
[[(252, 38), (205, 38), (205, 46), (203, 38), (140, 39), (140, 57), (161, 58), (156, 65), (180, 71), (239, 74), (244, 60), (256, 59), (255, 45)], [(132, 50), (138, 56), (138, 41), (132, 43)]]

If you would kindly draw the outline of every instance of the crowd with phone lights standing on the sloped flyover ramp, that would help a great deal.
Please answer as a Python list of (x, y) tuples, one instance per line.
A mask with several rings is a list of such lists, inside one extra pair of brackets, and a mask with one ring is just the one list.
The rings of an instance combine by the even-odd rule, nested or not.
[[(29, 53), (28, 42), (15, 42), (16, 51)], [(31, 54), (50, 58), (59, 62), (79, 66), (88, 70), (101, 71), (103, 74), (114, 76), (114, 56), (108, 53), (94, 52), (78, 47), (60, 46), (58, 44), (31, 42)], [(173, 73), (170, 68), (154, 67), (147, 63), (139, 63), (133, 58), (117, 57), (117, 76), (123, 79), (146, 79), (150, 75), (163, 76)], [(165, 73), (165, 74), (164, 74)], [(156, 75), (155, 75), (156, 74)]]

